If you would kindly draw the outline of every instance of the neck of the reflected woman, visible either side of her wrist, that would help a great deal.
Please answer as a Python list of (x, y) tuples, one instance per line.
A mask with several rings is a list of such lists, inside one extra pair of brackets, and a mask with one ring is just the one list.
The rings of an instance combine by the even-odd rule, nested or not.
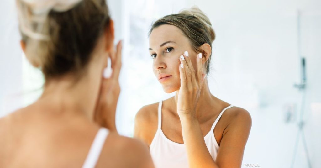
[[(176, 91), (175, 97), (172, 97), (172, 100), (175, 103), (176, 111), (177, 111), (178, 93), (179, 93), (179, 90)], [(216, 105), (217, 103), (218, 101), (216, 101), (215, 97), (210, 92), (207, 78), (205, 78), (203, 86), (201, 88), (200, 97), (196, 105), (196, 117), (200, 118), (201, 116), (204, 115), (204, 113), (207, 113), (208, 110), (210, 110), (209, 107), (211, 107), (212, 105)]]

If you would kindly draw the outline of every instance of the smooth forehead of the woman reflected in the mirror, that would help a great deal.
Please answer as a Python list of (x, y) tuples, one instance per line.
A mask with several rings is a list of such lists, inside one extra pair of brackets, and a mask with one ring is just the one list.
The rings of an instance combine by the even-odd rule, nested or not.
[(188, 40), (183, 32), (176, 26), (163, 24), (153, 29), (149, 36), (150, 47), (159, 47), (166, 41), (175, 41), (177, 44)]

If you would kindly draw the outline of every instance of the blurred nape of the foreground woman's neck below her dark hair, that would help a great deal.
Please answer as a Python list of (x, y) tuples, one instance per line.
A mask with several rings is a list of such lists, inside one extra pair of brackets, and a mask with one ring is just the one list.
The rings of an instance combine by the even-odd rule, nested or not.
[(95, 89), (98, 86), (94, 84), (86, 75), (77, 82), (74, 82), (72, 75), (51, 79), (46, 82), (38, 101), (44, 102), (48, 111), (80, 115), (92, 120), (98, 96), (98, 89)]

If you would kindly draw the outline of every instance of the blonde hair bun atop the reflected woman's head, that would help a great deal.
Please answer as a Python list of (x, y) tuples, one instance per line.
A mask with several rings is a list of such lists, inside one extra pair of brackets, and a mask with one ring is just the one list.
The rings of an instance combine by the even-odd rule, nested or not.
[(215, 40), (215, 32), (213, 30), (210, 19), (197, 6), (192, 6), (189, 9), (183, 9), (179, 12), (179, 14), (192, 15), (192, 16), (195, 16), (196, 18), (198, 18), (198, 20), (201, 21), (204, 24), (204, 26), (206, 27), (206, 29), (209, 33), (209, 36), (210, 36), (210, 40), (212, 42)]

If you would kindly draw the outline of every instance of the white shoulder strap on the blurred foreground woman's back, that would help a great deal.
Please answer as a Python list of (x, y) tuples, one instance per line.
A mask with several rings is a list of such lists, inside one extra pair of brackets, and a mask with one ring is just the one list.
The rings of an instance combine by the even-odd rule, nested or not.
[(82, 165), (82, 168), (94, 168), (97, 164), (100, 152), (105, 144), (105, 140), (108, 136), (109, 130), (107, 128), (100, 128), (96, 134), (94, 141), (91, 144), (91, 148), (87, 155), (87, 158)]

